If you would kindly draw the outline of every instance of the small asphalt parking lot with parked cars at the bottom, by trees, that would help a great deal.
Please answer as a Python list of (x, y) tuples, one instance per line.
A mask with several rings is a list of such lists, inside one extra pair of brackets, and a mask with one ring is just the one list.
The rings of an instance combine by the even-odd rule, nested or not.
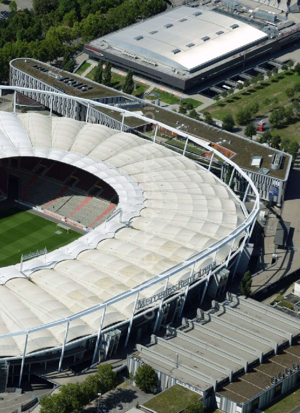
[[(132, 407), (136, 407), (136, 404), (139, 405), (145, 403), (147, 400), (153, 397), (153, 394), (146, 394), (137, 387), (127, 385), (128, 382), (122, 383), (115, 390), (105, 393), (103, 397), (99, 400), (99, 413), (102, 412), (102, 407), (105, 404), (107, 412), (117, 413), (120, 410), (117, 409), (118, 403), (121, 403), (123, 406), (122, 412), (128, 411)], [(87, 406), (84, 413), (97, 413), (98, 409), (98, 399), (94, 400), (91, 406)]]

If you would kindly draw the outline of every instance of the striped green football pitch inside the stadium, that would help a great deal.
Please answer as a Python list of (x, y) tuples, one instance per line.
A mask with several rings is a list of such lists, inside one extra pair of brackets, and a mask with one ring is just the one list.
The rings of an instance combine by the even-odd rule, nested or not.
[[(61, 234), (56, 234), (59, 230)], [(82, 234), (63, 228), (45, 218), (10, 208), (0, 213), (0, 267), (17, 264), (22, 254), (47, 248), (53, 251), (77, 240)]]

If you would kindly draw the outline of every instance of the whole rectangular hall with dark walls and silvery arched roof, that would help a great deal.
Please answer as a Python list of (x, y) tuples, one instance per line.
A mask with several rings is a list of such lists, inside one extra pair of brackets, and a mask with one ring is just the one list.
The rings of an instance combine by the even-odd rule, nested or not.
[(300, 36), (298, 24), (281, 23), (275, 31), (273, 24), (271, 33), (262, 19), (255, 24), (248, 14), (226, 12), (232, 7), (224, 6), (221, 15), (211, 6), (175, 7), (85, 43), (83, 50), (94, 59), (187, 91), (271, 55)]

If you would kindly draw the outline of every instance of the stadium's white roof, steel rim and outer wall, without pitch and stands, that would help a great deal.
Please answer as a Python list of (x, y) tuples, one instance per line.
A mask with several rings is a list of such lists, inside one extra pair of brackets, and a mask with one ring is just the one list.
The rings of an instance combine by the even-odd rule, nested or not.
[[(43, 93), (66, 102), (78, 99)], [(20, 386), (34, 365), (54, 363), (61, 370), (63, 362), (70, 365), (83, 356), (90, 355), (91, 363), (102, 360), (129, 339), (179, 318), (192, 299), (220, 294), (229, 274), (234, 277), (259, 194), (222, 153), (213, 149), (248, 182), (243, 201), (210, 168), (156, 144), (156, 133), (145, 140), (88, 118), (7, 112), (0, 113), (0, 129), (2, 159), (36, 157), (71, 165), (118, 195), (110, 218), (87, 228), (86, 235), (24, 262), (22, 271), (20, 264), (0, 269), (0, 356), (9, 362), (11, 382)], [(249, 188), (255, 193), (250, 213), (244, 205)], [(47, 214), (47, 207), (41, 210)]]

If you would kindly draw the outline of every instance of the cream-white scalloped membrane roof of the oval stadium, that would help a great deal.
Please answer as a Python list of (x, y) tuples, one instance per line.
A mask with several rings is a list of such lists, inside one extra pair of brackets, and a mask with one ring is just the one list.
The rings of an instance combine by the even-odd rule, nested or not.
[[(50, 146), (51, 142), (51, 146)], [(228, 235), (245, 217), (239, 201), (215, 176), (193, 161), (136, 135), (97, 124), (41, 114), (0, 112), (0, 158), (56, 159), (94, 173), (118, 193), (118, 218), (47, 254), (0, 269), (0, 334), (28, 330), (101, 304), (149, 280)], [(96, 160), (97, 159), (97, 160)], [(110, 166), (109, 166), (110, 165)], [(242, 235), (241, 235), (242, 236)], [(236, 237), (234, 249), (241, 236)], [(231, 243), (230, 243), (231, 244)], [(224, 262), (230, 244), (217, 253)], [(210, 264), (202, 259), (195, 271)], [(189, 277), (186, 268), (168, 287)], [(139, 299), (163, 291), (165, 282)], [(130, 318), (135, 295), (106, 309), (105, 326)], [(72, 320), (67, 342), (95, 334), (102, 310)], [(27, 354), (57, 347), (66, 325), (28, 335)], [(20, 356), (25, 335), (0, 339), (0, 357)]]

